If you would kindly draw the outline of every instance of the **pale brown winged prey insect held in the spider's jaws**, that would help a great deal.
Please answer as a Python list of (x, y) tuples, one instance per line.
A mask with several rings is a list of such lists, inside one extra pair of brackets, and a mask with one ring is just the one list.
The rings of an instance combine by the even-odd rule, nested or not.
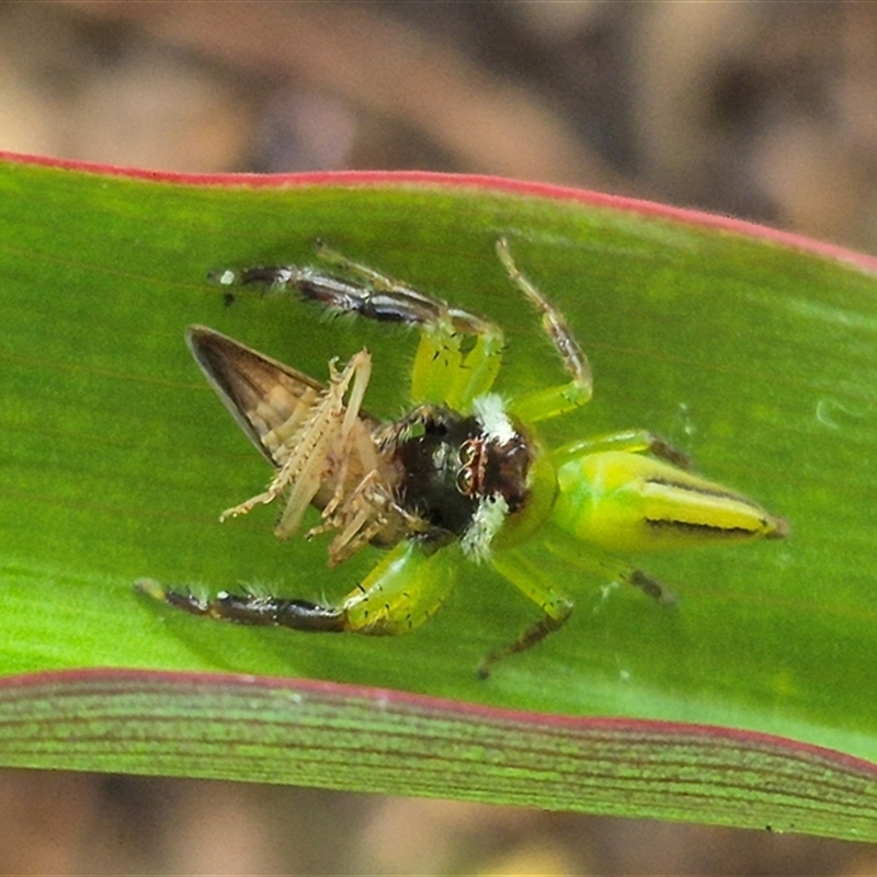
[(379, 424), (361, 408), (371, 374), (366, 351), (340, 373), (332, 366), (323, 386), (205, 327), (192, 327), (187, 341), (226, 407), (277, 469), (263, 493), (220, 520), (284, 496), (275, 533), (288, 538), (312, 504), (323, 513), (318, 529), (338, 531), (332, 566), (368, 542), (395, 544), (408, 532), (408, 516), (392, 501), (398, 465), (378, 454), (373, 433)]

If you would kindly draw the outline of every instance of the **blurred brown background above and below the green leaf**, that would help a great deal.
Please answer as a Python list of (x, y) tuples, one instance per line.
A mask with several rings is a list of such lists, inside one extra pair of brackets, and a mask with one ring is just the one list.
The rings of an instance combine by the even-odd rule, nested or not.
[[(875, 2), (3, 2), (0, 149), (417, 168), (877, 252)], [(228, 783), (0, 772), (2, 874), (877, 873), (805, 838)]]

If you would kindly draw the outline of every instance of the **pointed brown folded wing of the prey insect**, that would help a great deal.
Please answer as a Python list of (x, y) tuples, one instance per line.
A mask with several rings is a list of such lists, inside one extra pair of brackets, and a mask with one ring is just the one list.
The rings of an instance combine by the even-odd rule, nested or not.
[(186, 332), (192, 355), (240, 428), (274, 466), (324, 385), (205, 326)]

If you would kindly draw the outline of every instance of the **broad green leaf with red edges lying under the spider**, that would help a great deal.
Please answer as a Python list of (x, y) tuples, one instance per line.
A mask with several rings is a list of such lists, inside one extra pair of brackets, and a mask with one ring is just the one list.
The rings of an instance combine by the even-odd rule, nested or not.
[[(291, 743), (291, 765), (274, 777), (284, 782), (877, 839), (874, 768), (851, 761), (877, 761), (874, 260), (654, 205), (412, 174), (173, 179), (10, 161), (0, 166), (0, 673), (92, 669), (24, 675), (3, 687), (0, 707), (16, 718), (0, 761), (270, 778), (259, 759), (248, 771), (234, 754), (244, 742), (263, 747), (263, 760), (274, 751), (265, 736), (242, 733), (250, 726), (240, 709), (247, 696), (255, 703), (289, 691), (262, 677), (309, 677), (455, 703), (411, 701), (417, 709), (391, 710), (381, 725), (386, 698), (331, 690), (345, 727), (397, 740), (401, 749), (374, 750), (388, 760), (380, 777), (396, 779), (369, 782), (368, 771), (350, 765), (340, 777), (332, 753), (343, 745), (332, 742), (322, 756), (307, 750), (306, 760), (316, 758), (307, 771)], [(183, 331), (206, 323), (320, 379), (330, 357), (368, 346), (375, 374), (366, 405), (388, 418), (406, 405), (415, 339), (365, 321), (327, 322), (284, 296), (243, 293), (229, 304), (207, 283), (210, 269), (307, 263), (314, 239), (322, 238), (500, 322), (508, 352), (498, 389), (513, 394), (557, 383), (559, 368), (493, 254), (500, 235), (565, 311), (594, 368), (593, 401), (547, 423), (549, 444), (650, 429), (691, 453), (698, 471), (787, 517), (787, 540), (638, 558), (680, 596), (676, 607), (663, 607), (571, 574), (536, 536), (532, 557), (555, 570), (577, 611), (561, 631), (500, 663), (486, 682), (474, 674), (481, 657), (538, 611), (472, 565), (460, 570), (446, 607), (399, 638), (213, 624), (135, 594), (135, 580), (149, 577), (210, 593), (252, 583), (291, 596), (341, 595), (380, 556), (366, 548), (330, 571), (324, 542), (274, 539), (273, 509), (218, 523), (218, 513), (261, 490), (270, 471), (201, 377)], [(207, 671), (194, 688), (209, 702), (209, 732), (198, 730), (191, 675), (179, 677), (189, 681), (181, 688), (173, 674), (95, 675), (99, 668)], [(242, 694), (242, 683), (210, 671), (258, 679)], [(71, 695), (76, 708), (50, 728), (39, 718), (57, 696), (46, 693), (47, 679), (66, 680), (75, 692), (89, 680), (101, 706)], [(229, 686), (238, 701), (228, 699)], [(126, 719), (113, 718), (121, 688), (139, 698)], [(145, 688), (158, 694), (149, 699)], [(283, 713), (277, 727), (296, 721), (296, 702), (285, 696), (285, 706), (270, 707)], [(236, 718), (223, 727), (225, 703)], [(173, 714), (170, 725), (162, 705)], [(77, 737), (71, 717), (81, 719), (81, 710), (106, 722), (114, 758), (100, 733)], [(307, 721), (328, 721), (326, 715)], [(503, 725), (511, 716), (529, 734), (523, 750), (543, 748), (558, 760), (554, 784), (535, 773), (526, 790), (511, 791), (513, 759), (502, 770), (466, 768), (471, 752), (512, 745), (516, 731)], [(578, 733), (599, 734), (593, 717), (602, 716), (658, 724), (629, 726), (645, 740), (631, 749), (635, 758), (626, 765), (616, 752), (596, 774), (619, 782), (594, 781), (577, 797), (573, 786), (563, 788), (576, 767), (559, 743), (549, 744), (548, 716), (570, 717), (563, 721), (579, 722)], [(465, 733), (443, 737), (445, 721)], [(748, 733), (710, 737), (693, 725)], [(443, 782), (434, 765), (413, 759), (412, 728), (447, 758), (456, 752), (459, 774)], [(647, 770), (675, 745), (665, 733), (687, 747), (671, 774), (697, 774), (696, 802), (683, 786), (667, 785), (670, 774)], [(53, 734), (64, 740), (57, 750), (46, 742)], [(807, 745), (762, 734), (843, 758), (817, 758)], [(341, 739), (326, 725), (330, 738)], [(166, 741), (168, 756), (137, 761), (136, 752), (151, 750), (134, 741), (152, 739)], [(320, 739), (307, 745), (319, 752)], [(634, 747), (624, 736), (616, 742)], [(796, 785), (794, 771), (759, 762), (764, 748), (781, 751), (804, 778)], [(759, 765), (740, 786), (750, 794), (729, 797), (722, 772), (730, 776), (747, 759)], [(753, 789), (764, 791), (774, 771), (778, 797), (756, 812)], [(852, 776), (856, 782), (844, 785)], [(623, 779), (645, 784), (641, 799), (633, 801)], [(829, 805), (832, 783), (843, 807)], [(811, 800), (810, 817), (798, 818), (795, 808), (811, 798), (819, 806)]]

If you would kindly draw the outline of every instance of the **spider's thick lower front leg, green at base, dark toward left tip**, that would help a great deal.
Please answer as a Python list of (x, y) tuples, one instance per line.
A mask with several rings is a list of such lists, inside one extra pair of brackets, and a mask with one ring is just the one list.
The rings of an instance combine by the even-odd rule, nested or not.
[(228, 593), (202, 600), (151, 580), (139, 581), (137, 588), (171, 606), (217, 620), (317, 633), (398, 636), (432, 617), (453, 590), (453, 571), (459, 558), (452, 558), (451, 554), (453, 550), (448, 549), (428, 555), (414, 542), (400, 543), (339, 603)]

